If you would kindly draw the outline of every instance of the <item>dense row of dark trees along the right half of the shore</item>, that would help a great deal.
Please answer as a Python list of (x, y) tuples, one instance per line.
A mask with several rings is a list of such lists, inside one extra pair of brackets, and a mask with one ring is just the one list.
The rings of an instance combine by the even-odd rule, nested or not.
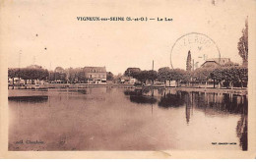
[(181, 83), (185, 85), (193, 85), (194, 83), (213, 82), (214, 86), (219, 87), (245, 87), (248, 82), (248, 68), (246, 66), (237, 66), (236, 64), (220, 66), (219, 68), (197, 68), (195, 71), (185, 71), (182, 69), (170, 69), (168, 67), (160, 68), (159, 71), (137, 71), (124, 73), (129, 76), (146, 83), (146, 81), (176, 81), (176, 85)]

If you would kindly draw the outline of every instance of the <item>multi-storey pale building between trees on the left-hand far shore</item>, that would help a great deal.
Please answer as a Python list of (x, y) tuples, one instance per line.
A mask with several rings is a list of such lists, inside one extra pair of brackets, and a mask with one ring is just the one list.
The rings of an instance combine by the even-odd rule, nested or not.
[(106, 83), (105, 67), (84, 67), (83, 72), (85, 73), (85, 79), (87, 83)]

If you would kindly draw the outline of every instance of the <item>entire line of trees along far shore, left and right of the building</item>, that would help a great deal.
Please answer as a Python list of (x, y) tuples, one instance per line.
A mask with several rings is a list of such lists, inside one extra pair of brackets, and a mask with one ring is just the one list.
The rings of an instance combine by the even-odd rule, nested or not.
[[(176, 81), (177, 86), (181, 83), (191, 85), (193, 83), (214, 82), (214, 85), (225, 87), (245, 87), (248, 82), (248, 68), (246, 66), (237, 66), (236, 64), (220, 66), (219, 68), (198, 68), (195, 71), (185, 71), (182, 69), (170, 69), (168, 67), (160, 68), (159, 71), (129, 71), (124, 76), (129, 76), (146, 83), (146, 81)], [(34, 81), (63, 81), (69, 83), (85, 82), (85, 72), (81, 69), (67, 69), (60, 72), (48, 72), (42, 68), (13, 68), (8, 69), (8, 78), (14, 81), (14, 78), (22, 79), (27, 84), (28, 80)], [(106, 73), (107, 80), (113, 80), (111, 72)]]

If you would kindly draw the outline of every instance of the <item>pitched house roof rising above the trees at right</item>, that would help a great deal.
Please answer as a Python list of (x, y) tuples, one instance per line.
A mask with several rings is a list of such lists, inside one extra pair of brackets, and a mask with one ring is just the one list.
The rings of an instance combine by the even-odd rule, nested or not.
[(213, 58), (207, 59), (204, 64), (201, 65), (201, 68), (218, 68), (224, 66), (226, 63), (229, 63), (229, 58)]

